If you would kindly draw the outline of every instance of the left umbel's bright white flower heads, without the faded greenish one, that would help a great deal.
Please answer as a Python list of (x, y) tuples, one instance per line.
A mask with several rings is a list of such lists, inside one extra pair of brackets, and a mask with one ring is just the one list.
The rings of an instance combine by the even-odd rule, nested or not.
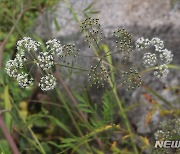
[[(9, 60), (6, 63), (5, 69), (7, 74), (10, 77), (15, 78), (19, 86), (22, 88), (27, 88), (33, 84), (33, 78), (29, 77), (29, 73), (22, 71), (25, 65), (24, 62), (27, 61), (27, 64), (36, 63), (38, 67), (40, 67), (43, 71), (46, 71), (44, 72), (44, 74), (46, 74), (47, 70), (54, 65), (53, 56), (62, 56), (63, 46), (57, 39), (52, 39), (46, 42), (47, 51), (45, 52), (39, 52), (38, 47), (40, 47), (39, 42), (32, 40), (30, 37), (24, 37), (17, 42), (18, 53), (16, 54), (15, 59)], [(28, 51), (28, 53), (26, 53), (26, 51)], [(35, 53), (30, 53), (31, 51)], [(25, 54), (27, 54), (27, 58)], [(69, 54), (68, 50), (67, 55)], [(28, 55), (30, 55), (30, 58)], [(39, 87), (43, 91), (52, 90), (55, 86), (56, 78), (53, 75), (48, 74), (41, 77)]]

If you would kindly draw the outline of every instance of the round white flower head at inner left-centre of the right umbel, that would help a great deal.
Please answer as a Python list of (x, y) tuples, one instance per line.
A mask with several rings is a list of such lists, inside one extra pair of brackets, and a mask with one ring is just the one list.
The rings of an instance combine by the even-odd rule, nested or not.
[(154, 66), (157, 62), (157, 58), (155, 54), (152, 53), (145, 53), (143, 56), (143, 63), (145, 67)]

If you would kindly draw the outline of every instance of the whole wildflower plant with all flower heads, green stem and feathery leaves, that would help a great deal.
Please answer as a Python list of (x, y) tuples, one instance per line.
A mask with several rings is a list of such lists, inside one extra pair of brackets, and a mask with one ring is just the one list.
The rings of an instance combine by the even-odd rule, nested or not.
[[(85, 35), (85, 41), (89, 43), (89, 47), (91, 47), (95, 52), (95, 56), (92, 56), (92, 58), (95, 59), (96, 62), (90, 66), (90, 68), (83, 68), (83, 66), (80, 66), (80, 68), (79, 66), (76, 66), (76, 58), (78, 56), (81, 56), (82, 58), (83, 55), (79, 54), (80, 49), (78, 49), (75, 44), (61, 44), (59, 40), (51, 39), (45, 43), (45, 49), (42, 50), (40, 42), (37, 42), (30, 37), (24, 37), (17, 42), (17, 54), (15, 55), (15, 58), (6, 63), (6, 72), (10, 77), (17, 80), (17, 83), (21, 88), (29, 88), (33, 85), (37, 85), (42, 91), (45, 92), (56, 88), (58, 81), (61, 81), (62, 79), (60, 77), (58, 78), (57, 74), (54, 74), (59, 70), (64, 71), (63, 68), (70, 70), (79, 69), (80, 71), (83, 70), (87, 72), (87, 80), (91, 86), (99, 88), (106, 87), (107, 85), (108, 88), (111, 88), (111, 91), (107, 92), (107, 98), (103, 98), (104, 111), (102, 115), (104, 121), (101, 122), (99, 119), (97, 120), (96, 116), (94, 116), (97, 113), (97, 106), (94, 107), (89, 102), (87, 103), (87, 100), (84, 100), (84, 98), (81, 98), (79, 95), (77, 95), (77, 100), (79, 100), (79, 102), (82, 104), (76, 103), (76, 99), (74, 98), (73, 94), (71, 94), (67, 86), (61, 81), (62, 85), (67, 91), (67, 94), (70, 96), (70, 99), (72, 99), (73, 103), (75, 102), (74, 106), (77, 107), (76, 109), (80, 114), (82, 121), (81, 126), (86, 125), (86, 129), (91, 132), (85, 136), (83, 135), (73, 117), (74, 113), (71, 113), (71, 110), (68, 107), (69, 104), (66, 104), (66, 99), (58, 91), (58, 89), (56, 89), (57, 93), (59, 92), (58, 96), (60, 97), (60, 100), (62, 103), (64, 103), (65, 109), (67, 110), (67, 113), (72, 119), (73, 124), (80, 135), (80, 137), (72, 138), (72, 140), (71, 138), (69, 140), (62, 138), (62, 145), (58, 145), (58, 147), (63, 150), (66, 149), (66, 147), (67, 149), (69, 149), (69, 147), (73, 150), (77, 149), (79, 145), (81, 145), (83, 142), (85, 143), (85, 139), (88, 139), (88, 141), (92, 140), (91, 137), (97, 132), (102, 132), (104, 130), (113, 128), (119, 129), (126, 134), (124, 138), (128, 138), (128, 140), (131, 142), (133, 153), (138, 154), (138, 149), (133, 138), (134, 135), (131, 130), (131, 124), (126, 115), (126, 111), (123, 108), (123, 103), (118, 97), (116, 75), (118, 75), (118, 78), (120, 78), (121, 86), (124, 86), (127, 90), (134, 91), (136, 88), (140, 87), (143, 82), (143, 74), (141, 73), (141, 71), (143, 71), (142, 69), (153, 68), (154, 75), (157, 78), (166, 77), (169, 73), (168, 64), (171, 63), (173, 54), (171, 51), (164, 48), (164, 43), (159, 38), (147, 39), (141, 37), (137, 39), (135, 44), (133, 44), (132, 35), (123, 28), (117, 29), (113, 32), (112, 35), (115, 38), (115, 46), (112, 50), (109, 50), (109, 48), (107, 46), (105, 48), (105, 44), (103, 44), (105, 42), (105, 37), (101, 25), (99, 24), (99, 19), (87, 18), (82, 22), (81, 30)], [(125, 69), (122, 66), (115, 68), (112, 55), (123, 57), (126, 62), (129, 62), (131, 55), (136, 50), (137, 53), (143, 53), (140, 63), (143, 64), (144, 68), (133, 65), (133, 63), (133, 66), (127, 66), (128, 69)], [(84, 55), (83, 58), (86, 58), (86, 55)], [(38, 70), (40, 73), (39, 79), (37, 79), (33, 74), (34, 70)], [(112, 109), (113, 106), (111, 107), (109, 102), (115, 101), (119, 107), (119, 114), (123, 119), (125, 130), (121, 129), (120, 125), (111, 124), (113, 122), (112, 119), (114, 113)], [(88, 113), (88, 116), (90, 115), (88, 117), (90, 122), (86, 119), (86, 116), (84, 116), (85, 112)], [(74, 115), (78, 114), (75, 113)], [(56, 122), (57, 120), (52, 121)], [(67, 133), (72, 135), (71, 130), (69, 131), (68, 128), (66, 128), (63, 124), (58, 123), (58, 125), (60, 125), (63, 130), (66, 130)], [(177, 128), (176, 131), (178, 132)], [(162, 134), (165, 131), (166, 130), (160, 130), (156, 133), (156, 136), (158, 138), (160, 136), (164, 137)], [(74, 135), (72, 136), (74, 137)], [(87, 148), (88, 150), (90, 149), (89, 151), (91, 151), (88, 143)]]

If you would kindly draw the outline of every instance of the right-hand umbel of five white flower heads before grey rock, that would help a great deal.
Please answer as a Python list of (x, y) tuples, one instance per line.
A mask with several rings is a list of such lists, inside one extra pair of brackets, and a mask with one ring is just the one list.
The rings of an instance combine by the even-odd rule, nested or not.
[(136, 41), (137, 50), (146, 49), (150, 46), (155, 48), (155, 53), (145, 53), (143, 56), (143, 64), (145, 67), (157, 65), (154, 75), (158, 78), (166, 77), (169, 73), (167, 64), (172, 61), (173, 54), (171, 51), (164, 49), (164, 42), (159, 38), (155, 37), (149, 40), (141, 37)]

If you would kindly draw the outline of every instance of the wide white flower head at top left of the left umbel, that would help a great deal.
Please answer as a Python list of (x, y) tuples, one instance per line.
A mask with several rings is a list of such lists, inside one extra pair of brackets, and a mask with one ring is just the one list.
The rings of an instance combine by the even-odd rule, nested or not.
[(32, 40), (30, 37), (23, 37), (17, 42), (17, 50), (37, 51), (41, 44)]

